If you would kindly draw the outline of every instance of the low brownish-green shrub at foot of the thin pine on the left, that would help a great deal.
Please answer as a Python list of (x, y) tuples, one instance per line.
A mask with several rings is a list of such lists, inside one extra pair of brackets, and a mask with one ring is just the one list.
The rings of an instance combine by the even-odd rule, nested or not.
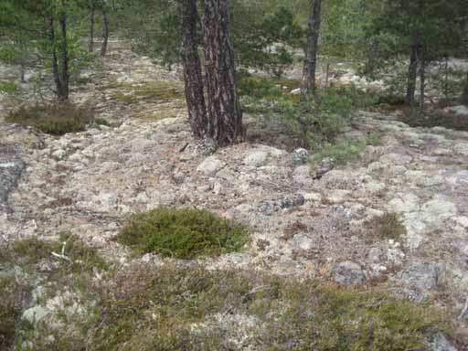
[(10, 112), (5, 121), (31, 126), (51, 135), (63, 135), (86, 130), (93, 115), (72, 104), (47, 104), (20, 107)]

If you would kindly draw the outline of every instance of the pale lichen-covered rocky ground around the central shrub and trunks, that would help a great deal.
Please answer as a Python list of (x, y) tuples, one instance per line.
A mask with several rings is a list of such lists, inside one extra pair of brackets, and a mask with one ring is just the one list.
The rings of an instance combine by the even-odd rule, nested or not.
[[(130, 95), (154, 80), (180, 87), (176, 72), (148, 58), (115, 46), (102, 72), (83, 77), (90, 82), (73, 99), (96, 105), (111, 126), (56, 138), (0, 121), (1, 238), (71, 231), (110, 260), (126, 261), (128, 250), (114, 238), (128, 215), (208, 208), (252, 229), (243, 252), (201, 262), (209, 268), (367, 284), (445, 306), (453, 319), (463, 310), (468, 133), (359, 112), (346, 136), (378, 134), (381, 145), (315, 179), (301, 151), (250, 141), (212, 154), (209, 144), (195, 143), (178, 90), (174, 99), (122, 100), (116, 92)], [(251, 135), (271, 133), (246, 122)], [(386, 213), (401, 218), (401, 239), (379, 237), (375, 218)]]

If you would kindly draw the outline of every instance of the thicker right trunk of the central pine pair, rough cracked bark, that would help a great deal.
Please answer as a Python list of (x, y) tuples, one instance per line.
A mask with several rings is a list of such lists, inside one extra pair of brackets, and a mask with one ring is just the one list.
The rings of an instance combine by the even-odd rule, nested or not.
[(229, 0), (205, 0), (203, 27), (208, 96), (208, 133), (219, 146), (243, 138), (230, 41)]

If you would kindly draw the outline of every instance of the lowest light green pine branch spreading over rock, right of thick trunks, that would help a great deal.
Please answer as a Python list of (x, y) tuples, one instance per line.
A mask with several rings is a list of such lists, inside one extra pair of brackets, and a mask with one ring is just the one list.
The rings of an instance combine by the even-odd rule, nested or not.
[(357, 140), (344, 139), (324, 143), (309, 161), (313, 168), (325, 157), (333, 159), (336, 165), (346, 165), (358, 160), (368, 144), (380, 144), (380, 139), (378, 136), (367, 136)]

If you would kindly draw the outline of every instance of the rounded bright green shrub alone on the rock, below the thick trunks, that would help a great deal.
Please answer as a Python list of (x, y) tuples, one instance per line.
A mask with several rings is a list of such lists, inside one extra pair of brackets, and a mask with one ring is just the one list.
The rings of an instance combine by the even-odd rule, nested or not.
[(118, 241), (139, 252), (195, 259), (237, 251), (247, 242), (247, 229), (207, 210), (160, 207), (133, 215)]

